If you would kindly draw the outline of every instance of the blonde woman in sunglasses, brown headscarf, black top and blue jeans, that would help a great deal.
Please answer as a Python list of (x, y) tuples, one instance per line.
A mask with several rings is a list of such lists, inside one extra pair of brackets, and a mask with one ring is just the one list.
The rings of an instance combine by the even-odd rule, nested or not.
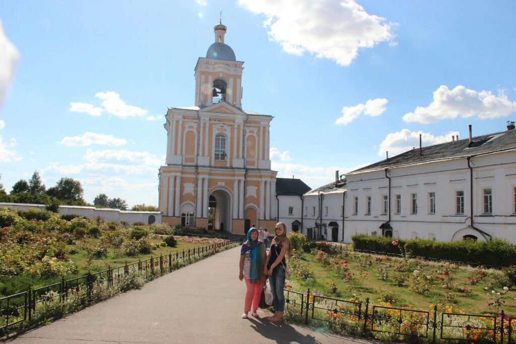
[(272, 291), (274, 315), (265, 319), (269, 321), (283, 321), (283, 311), (285, 310), (285, 296), (283, 294), (285, 269), (287, 267), (287, 259), (290, 262), (291, 242), (286, 236), (287, 226), (285, 223), (278, 222), (274, 230), (276, 231), (276, 236), (270, 243), (264, 269), (264, 272), (268, 275), (270, 290)]

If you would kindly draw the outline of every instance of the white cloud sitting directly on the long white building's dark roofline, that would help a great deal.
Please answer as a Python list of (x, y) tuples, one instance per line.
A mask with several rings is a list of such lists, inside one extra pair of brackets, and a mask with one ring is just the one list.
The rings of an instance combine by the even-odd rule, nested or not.
[(423, 146), (439, 144), (451, 141), (451, 136), (459, 135), (459, 132), (449, 132), (443, 136), (433, 136), (432, 134), (423, 132), (411, 132), (409, 129), (402, 129), (400, 132), (391, 133), (385, 137), (380, 144), (379, 156), (385, 156), (385, 152), (389, 152), (389, 156), (395, 156), (414, 147), (419, 147), (419, 135)]

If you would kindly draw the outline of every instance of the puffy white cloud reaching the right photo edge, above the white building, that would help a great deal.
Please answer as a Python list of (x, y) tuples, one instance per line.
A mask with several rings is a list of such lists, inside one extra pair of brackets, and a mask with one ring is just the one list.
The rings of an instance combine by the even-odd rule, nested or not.
[(478, 116), (480, 119), (493, 119), (509, 116), (516, 111), (516, 102), (511, 102), (502, 91), (498, 96), (491, 91), (475, 91), (462, 85), (453, 90), (442, 85), (433, 92), (433, 102), (427, 106), (418, 106), (414, 112), (405, 114), (406, 122), (433, 123), (457, 117)]

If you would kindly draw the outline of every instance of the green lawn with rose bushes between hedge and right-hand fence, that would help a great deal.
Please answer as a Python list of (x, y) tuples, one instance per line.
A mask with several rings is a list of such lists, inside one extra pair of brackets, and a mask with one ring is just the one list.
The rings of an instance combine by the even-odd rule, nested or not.
[[(504, 281), (504, 275), (497, 270), (483, 270), (486, 276), (472, 285), (469, 278), (472, 276), (471, 267), (448, 268), (445, 270), (445, 263), (433, 263), (429, 261), (417, 260), (412, 263), (421, 274), (431, 276), (433, 286), (424, 294), (418, 294), (411, 290), (412, 272), (400, 272), (396, 267), (400, 265), (400, 258), (380, 257), (345, 252), (340, 254), (330, 254), (334, 259), (330, 267), (323, 266), (317, 261), (315, 256), (308, 252), (303, 252), (300, 260), (309, 264), (309, 269), (313, 272), (314, 278), (307, 280), (294, 279), (290, 284), (294, 290), (321, 291), (326, 297), (338, 299), (350, 298), (365, 301), (369, 298), (370, 302), (381, 304), (383, 302), (392, 307), (412, 306), (415, 309), (430, 310), (432, 305), (438, 305), (439, 310), (446, 311), (451, 307), (454, 312), (464, 312), (471, 314), (495, 313), (504, 310), (506, 314), (516, 315), (516, 292), (514, 287), (508, 291), (503, 286), (508, 285)], [(344, 263), (347, 260), (347, 263)], [(334, 264), (337, 261), (338, 264)], [(348, 282), (343, 277), (344, 267), (349, 269)], [(380, 279), (378, 268), (383, 268), (383, 280)], [(449, 270), (449, 271), (448, 271)], [(445, 271), (448, 274), (445, 275)], [(436, 278), (439, 276), (439, 278)], [(442, 278), (445, 278), (442, 281)], [(449, 277), (453, 279), (450, 281)], [(397, 280), (400, 280), (399, 283)], [(446, 281), (451, 282), (451, 288), (443, 288)], [(505, 284), (505, 285), (504, 285)], [(332, 285), (336, 287), (332, 294)], [(485, 290), (487, 288), (488, 290)], [(492, 293), (492, 290), (495, 293)], [(500, 295), (496, 293), (499, 292)], [(496, 300), (497, 298), (497, 300)], [(496, 305), (496, 301), (499, 302)], [(494, 303), (489, 306), (489, 303)], [(432, 307), (431, 307), (432, 306)]]

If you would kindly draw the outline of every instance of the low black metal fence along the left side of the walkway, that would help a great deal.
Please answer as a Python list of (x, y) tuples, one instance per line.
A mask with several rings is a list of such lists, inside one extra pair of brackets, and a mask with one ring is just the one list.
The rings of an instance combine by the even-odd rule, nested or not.
[(65, 280), (40, 288), (33, 288), (29, 284), (27, 291), (0, 298), (0, 337), (7, 332), (9, 327), (30, 323), (35, 314), (39, 318), (50, 319), (61, 309), (62, 305), (74, 296), (78, 302), (90, 302), (96, 294), (106, 291), (118, 285), (125, 275), (139, 273), (146, 279), (153, 279), (174, 270), (176, 264), (181, 264), (192, 257), (202, 257), (212, 254), (216, 250), (223, 249), (236, 240), (225, 240), (220, 243), (205, 245), (193, 249), (176, 251), (175, 254), (160, 255), (135, 263), (118, 267), (108, 267), (106, 270)]

